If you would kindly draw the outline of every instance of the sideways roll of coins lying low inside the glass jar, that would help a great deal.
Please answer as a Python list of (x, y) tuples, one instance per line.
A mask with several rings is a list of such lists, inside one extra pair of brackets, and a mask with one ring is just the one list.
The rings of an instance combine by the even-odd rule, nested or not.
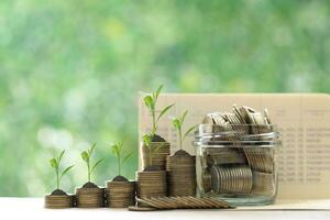
[(250, 194), (252, 189), (252, 170), (246, 165), (212, 166), (211, 187), (219, 194)]

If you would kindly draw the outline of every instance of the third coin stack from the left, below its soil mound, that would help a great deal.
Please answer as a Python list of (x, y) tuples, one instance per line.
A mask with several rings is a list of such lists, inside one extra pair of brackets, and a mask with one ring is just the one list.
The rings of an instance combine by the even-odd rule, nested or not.
[(125, 208), (135, 204), (135, 182), (108, 182), (108, 207)]

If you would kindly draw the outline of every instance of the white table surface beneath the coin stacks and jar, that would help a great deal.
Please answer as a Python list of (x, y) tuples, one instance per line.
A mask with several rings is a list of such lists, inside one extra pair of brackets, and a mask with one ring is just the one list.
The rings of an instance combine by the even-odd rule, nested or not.
[(77, 220), (148, 220), (148, 219), (330, 219), (330, 211), (321, 210), (167, 210), (136, 212), (127, 209), (45, 209), (43, 198), (0, 198), (0, 215), (4, 219), (77, 219)]

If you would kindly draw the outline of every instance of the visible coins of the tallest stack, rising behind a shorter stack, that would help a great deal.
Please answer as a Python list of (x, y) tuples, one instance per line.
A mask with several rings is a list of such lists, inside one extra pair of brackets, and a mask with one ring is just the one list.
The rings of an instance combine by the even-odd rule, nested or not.
[(164, 170), (169, 153), (168, 142), (151, 142), (150, 147), (142, 143), (142, 168), (153, 165)]

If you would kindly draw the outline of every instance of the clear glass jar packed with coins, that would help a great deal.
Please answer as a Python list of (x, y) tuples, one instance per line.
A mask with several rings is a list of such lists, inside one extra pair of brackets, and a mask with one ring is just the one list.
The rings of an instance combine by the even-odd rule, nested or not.
[(200, 124), (195, 133), (196, 173), (201, 197), (234, 206), (273, 204), (277, 191), (275, 125)]

